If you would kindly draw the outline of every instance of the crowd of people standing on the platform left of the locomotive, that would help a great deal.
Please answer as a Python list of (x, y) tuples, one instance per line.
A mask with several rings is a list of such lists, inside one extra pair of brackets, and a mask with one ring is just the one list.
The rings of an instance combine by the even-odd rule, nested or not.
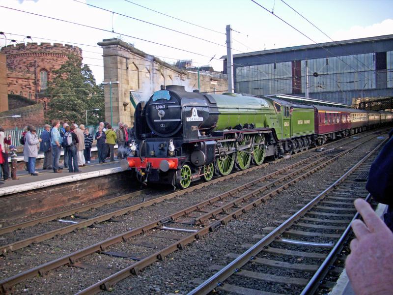
[[(44, 154), (43, 170), (53, 170), (54, 173), (62, 173), (63, 169), (68, 169), (70, 173), (79, 173), (81, 167), (90, 164), (91, 148), (93, 141), (97, 141), (98, 162), (114, 161), (114, 146), (117, 143), (117, 158), (126, 156), (127, 147), (134, 139), (134, 128), (128, 128), (122, 122), (118, 123), (118, 130), (115, 132), (109, 123), (100, 122), (95, 135), (90, 133), (84, 124), (63, 123), (60, 126), (59, 120), (54, 120), (52, 126), (45, 124), (44, 130), (38, 137), (36, 127), (26, 126), (23, 130), (20, 144), (23, 145), (24, 162), (26, 170), (31, 176), (37, 176), (35, 161), (38, 152)], [(15, 144), (15, 143), (14, 143)], [(6, 145), (9, 150), (6, 150)], [(17, 152), (18, 149), (11, 143), (11, 135), (6, 136), (4, 129), (0, 126), (0, 178), (3, 181), (11, 178), (18, 179), (17, 172)], [(59, 160), (61, 151), (64, 151), (64, 167), (60, 167)], [(8, 163), (11, 159), (11, 165)]]

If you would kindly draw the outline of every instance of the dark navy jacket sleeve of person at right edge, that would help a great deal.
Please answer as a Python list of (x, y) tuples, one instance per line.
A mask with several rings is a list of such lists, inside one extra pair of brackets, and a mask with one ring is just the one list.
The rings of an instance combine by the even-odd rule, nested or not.
[(371, 165), (366, 189), (377, 202), (389, 205), (384, 221), (393, 232), (393, 129), (389, 135), (389, 141)]

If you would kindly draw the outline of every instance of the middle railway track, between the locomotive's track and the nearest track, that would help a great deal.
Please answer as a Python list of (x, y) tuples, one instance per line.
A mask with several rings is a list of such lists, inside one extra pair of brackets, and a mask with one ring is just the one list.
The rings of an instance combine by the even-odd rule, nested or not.
[[(131, 266), (123, 267), (122, 270), (115, 273), (112, 273), (113, 269), (109, 270), (112, 273), (109, 277), (84, 289), (80, 294), (91, 294), (102, 289), (111, 290), (111, 286), (116, 282), (132, 274), (138, 274), (140, 269), (151, 265), (157, 260), (165, 259), (169, 253), (177, 249), (183, 249), (186, 244), (216, 230), (229, 220), (238, 218), (238, 216), (246, 213), (264, 200), (288, 188), (292, 183), (308, 177), (364, 143), (365, 141), (346, 150), (327, 150), (318, 154), (318, 156), (314, 155), (307, 160), (295, 163), (296, 165), (291, 165), (285, 172), (261, 177), (252, 181), (252, 183), (232, 189), (220, 196), (171, 214), (148, 225), (113, 236), (54, 261), (21, 272), (0, 281), (2, 292), (12, 290), (15, 284), (37, 275), (44, 275), (46, 272), (59, 266), (91, 268), (89, 264), (81, 262), (89, 255), (112, 256), (118, 257), (122, 262), (124, 260), (135, 262)], [(236, 195), (239, 191), (242, 191), (241, 196)], [(249, 192), (244, 194), (244, 191)], [(151, 251), (145, 251), (143, 257), (127, 254), (135, 252), (135, 247), (144, 247)], [(124, 265), (124, 263), (122, 264)]]

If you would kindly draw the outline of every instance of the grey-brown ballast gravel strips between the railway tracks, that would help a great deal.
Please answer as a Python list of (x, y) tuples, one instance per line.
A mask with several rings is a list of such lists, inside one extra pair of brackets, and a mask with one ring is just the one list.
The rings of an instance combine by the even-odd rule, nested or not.
[[(343, 145), (343, 143), (340, 143), (340, 146)], [(227, 226), (223, 226), (218, 231), (191, 243), (185, 250), (170, 254), (166, 261), (155, 263), (145, 268), (140, 275), (131, 276), (114, 285), (112, 294), (130, 294), (130, 292), (138, 294), (187, 293), (195, 287), (195, 284), (190, 283), (191, 280), (209, 277), (214, 273), (209, 271), (209, 266), (228, 263), (229, 261), (225, 258), (226, 254), (244, 251), (241, 245), (254, 243), (253, 236), (255, 234), (261, 235), (264, 227), (277, 226), (278, 222), (283, 220), (282, 214), (291, 214), (291, 209), (298, 208), (298, 204), (305, 203), (305, 198), (309, 199), (311, 197), (307, 192), (321, 191), (323, 184), (327, 185), (332, 182), (332, 178), (334, 178), (332, 175), (342, 175), (343, 171), (365, 154), (365, 151), (370, 150), (374, 146), (376, 146), (375, 141), (365, 143), (361, 148), (357, 148), (345, 157), (333, 162), (332, 165), (324, 168), (320, 173), (298, 182), (266, 203), (241, 215), (237, 220), (229, 222)], [(313, 151), (310, 152), (313, 153)], [(299, 157), (291, 157), (286, 161), (272, 163), (262, 170), (226, 180), (167, 202), (120, 216), (119, 219), (121, 218), (122, 222), (104, 222), (102, 224), (103, 228), (83, 228), (73, 233), (11, 252), (5, 257), (0, 257), (1, 276), (2, 278), (9, 277), (22, 270), (56, 259), (109, 236), (137, 228), (156, 219), (161, 219), (170, 213), (187, 208), (211, 196), (225, 192), (239, 184), (247, 183), (299, 160)], [(148, 243), (148, 241), (145, 241), (145, 243)], [(133, 249), (128, 247), (131, 245), (126, 247), (120, 245), (111, 246), (113, 247), (111, 250), (135, 253), (140, 256), (149, 255), (151, 251), (154, 252), (154, 249), (146, 247)], [(34, 278), (16, 286), (15, 290), (18, 293), (26, 292), (27, 294), (73, 294), (108, 276), (107, 271), (100, 271), (101, 268), (107, 268), (107, 270), (113, 272), (135, 262), (131, 259), (119, 259), (99, 254), (90, 255), (81, 261), (84, 262), (85, 268), (62, 266), (50, 271), (43, 278)], [(101, 261), (104, 261), (103, 265)], [(27, 291), (24, 291), (26, 289)], [(280, 293), (280, 290), (278, 289), (274, 292)]]

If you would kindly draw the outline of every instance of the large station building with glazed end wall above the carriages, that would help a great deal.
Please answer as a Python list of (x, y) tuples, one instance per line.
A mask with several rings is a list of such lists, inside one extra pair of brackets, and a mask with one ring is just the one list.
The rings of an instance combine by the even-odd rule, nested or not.
[[(224, 69), (226, 73), (226, 56)], [(393, 97), (393, 35), (233, 55), (234, 87), (357, 106)]]

